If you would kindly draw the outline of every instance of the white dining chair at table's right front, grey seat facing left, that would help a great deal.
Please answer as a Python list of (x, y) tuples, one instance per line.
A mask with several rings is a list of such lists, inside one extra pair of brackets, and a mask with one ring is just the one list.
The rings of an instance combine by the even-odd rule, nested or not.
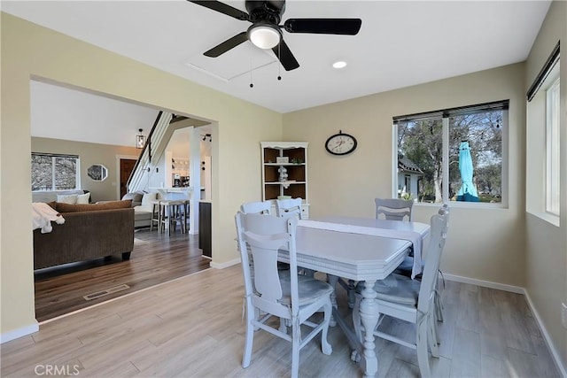
[[(427, 248), (422, 281), (412, 280), (404, 275), (391, 274), (383, 281), (377, 281), (374, 290), (377, 292), (376, 303), (380, 318), (373, 333), (393, 343), (413, 348), (417, 351), (417, 363), (422, 377), (430, 377), (428, 345), (431, 355), (439, 358), (439, 347), (434, 315), (435, 285), (439, 262), (445, 242), (447, 240), (447, 227), (449, 212), (435, 214), (431, 217), (431, 234)], [(362, 323), (359, 312), (361, 303), (361, 290), (363, 285), (357, 285), (356, 300), (353, 309), (353, 325), (356, 335), (361, 342)], [(415, 324), (416, 340), (412, 343), (400, 337), (392, 336), (380, 328), (384, 316), (405, 320)]]

